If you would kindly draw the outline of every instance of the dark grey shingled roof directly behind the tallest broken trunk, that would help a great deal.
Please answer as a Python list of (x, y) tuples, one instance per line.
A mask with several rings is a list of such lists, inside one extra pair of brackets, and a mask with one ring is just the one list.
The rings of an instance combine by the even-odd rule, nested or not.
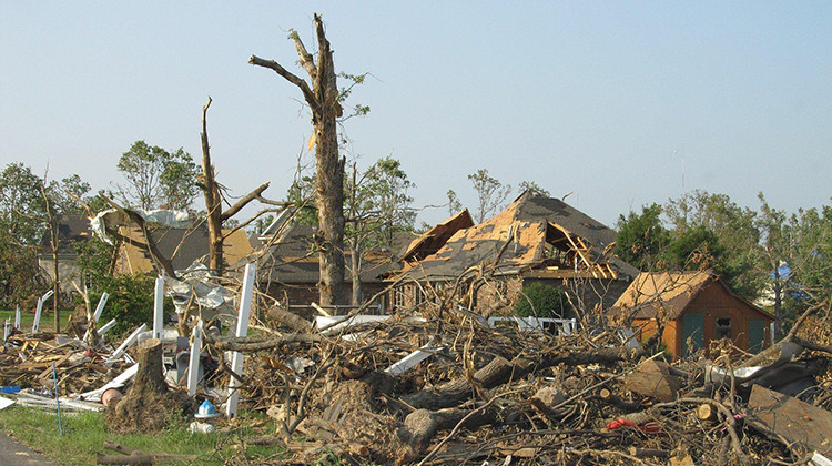
[[(283, 230), (277, 232), (277, 237), (271, 241), (271, 246), (264, 252), (261, 271), (267, 273), (272, 282), (316, 284), (321, 269), (317, 253), (313, 249), (315, 226), (288, 223)], [(409, 239), (408, 236), (397, 237)], [(398, 267), (398, 264), (392, 261), (389, 252), (372, 252), (366, 255), (359, 276), (363, 283), (378, 283), (379, 276), (394, 267)], [(349, 281), (348, 273), (346, 278)]]

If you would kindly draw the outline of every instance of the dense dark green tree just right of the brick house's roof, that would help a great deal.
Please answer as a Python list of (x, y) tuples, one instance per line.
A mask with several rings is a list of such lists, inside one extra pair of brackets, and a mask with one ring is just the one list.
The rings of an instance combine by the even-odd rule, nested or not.
[(618, 236), (613, 253), (642, 271), (657, 270), (661, 253), (670, 243), (670, 233), (661, 224), (662, 207), (645, 205), (641, 213), (630, 211), (618, 217)]

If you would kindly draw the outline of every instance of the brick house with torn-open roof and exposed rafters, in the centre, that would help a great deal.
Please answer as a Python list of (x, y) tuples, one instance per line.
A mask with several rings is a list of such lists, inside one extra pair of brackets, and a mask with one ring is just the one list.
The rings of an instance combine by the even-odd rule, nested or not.
[(496, 216), (475, 225), (467, 210), (414, 240), (402, 255), (393, 303), (434, 300), (470, 267), (487, 265), (490, 281), (460, 290), (489, 315), (532, 283), (566, 292), (577, 308), (612, 305), (639, 271), (613, 255), (616, 232), (565, 202), (526, 191)]

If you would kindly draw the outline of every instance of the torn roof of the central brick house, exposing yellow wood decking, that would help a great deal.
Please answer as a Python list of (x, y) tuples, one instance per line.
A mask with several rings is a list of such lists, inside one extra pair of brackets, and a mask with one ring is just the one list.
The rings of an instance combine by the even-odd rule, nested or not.
[[(569, 274), (574, 264), (566, 264), (564, 257), (556, 260), (554, 249), (579, 251), (575, 260), (590, 270), (590, 276), (630, 280), (638, 274), (636, 267), (608, 252), (615, 231), (560, 200), (526, 191), (480, 224), (465, 226), (463, 214), (470, 219), (463, 211), (410, 244), (405, 255), (407, 274), (416, 280), (448, 280), (470, 266), (495, 261), (496, 273), (542, 266)], [(430, 253), (419, 259), (420, 247), (428, 243), (430, 247), (424, 250)]]

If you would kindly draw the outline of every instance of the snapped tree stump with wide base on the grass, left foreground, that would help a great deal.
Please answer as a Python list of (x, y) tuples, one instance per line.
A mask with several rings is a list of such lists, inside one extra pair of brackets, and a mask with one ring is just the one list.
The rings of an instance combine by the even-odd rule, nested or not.
[(194, 401), (181, 389), (169, 391), (162, 372), (162, 342), (145, 340), (136, 347), (139, 369), (133, 385), (115, 405), (108, 407), (109, 432), (159, 432), (179, 417), (193, 414)]

